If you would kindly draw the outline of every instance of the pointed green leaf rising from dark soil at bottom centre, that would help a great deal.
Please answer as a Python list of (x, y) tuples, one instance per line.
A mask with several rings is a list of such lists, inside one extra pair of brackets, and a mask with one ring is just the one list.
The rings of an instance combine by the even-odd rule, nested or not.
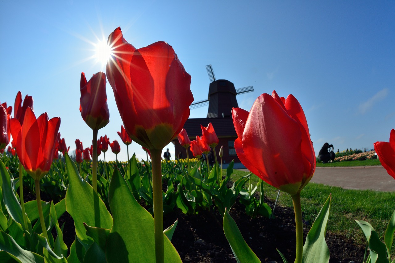
[(233, 255), (235, 255), (238, 263), (254, 263), (261, 262), (255, 253), (251, 250), (248, 244), (245, 242), (243, 235), (237, 227), (235, 220), (230, 216), (228, 210), (225, 209), (224, 221), (223, 221), (224, 233), (226, 239), (228, 239), (230, 248), (232, 249)]

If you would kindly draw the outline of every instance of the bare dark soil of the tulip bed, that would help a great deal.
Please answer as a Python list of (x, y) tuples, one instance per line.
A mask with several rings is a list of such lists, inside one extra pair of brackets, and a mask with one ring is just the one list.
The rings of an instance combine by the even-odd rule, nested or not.
[[(29, 194), (27, 193), (27, 195)], [(31, 198), (35, 199), (33, 195)], [(29, 199), (29, 197), (25, 197), (25, 201)], [(42, 199), (47, 201), (45, 196)], [(265, 202), (273, 207), (273, 200), (265, 199)], [(296, 246), (293, 209), (277, 206), (273, 219), (262, 216), (251, 218), (244, 212), (244, 209), (243, 205), (236, 202), (229, 214), (239, 226), (247, 244), (260, 260), (262, 262), (282, 262), (276, 251), (276, 248), (278, 248), (289, 262), (293, 262)], [(222, 217), (218, 212), (202, 211), (197, 215), (186, 215), (182, 214), (181, 210), (176, 210), (164, 216), (164, 227), (173, 224), (177, 219), (179, 222), (171, 241), (183, 262), (236, 262), (224, 235)], [(73, 219), (68, 212), (65, 212), (59, 219), (60, 225), (65, 224), (63, 237), (69, 248), (75, 239), (73, 223)], [(309, 229), (310, 225), (303, 225), (304, 239)], [(55, 231), (53, 231), (53, 235), (56, 235)], [(331, 253), (329, 262), (363, 261), (365, 246), (356, 244), (353, 240), (347, 239), (345, 235), (327, 232), (326, 242)]]

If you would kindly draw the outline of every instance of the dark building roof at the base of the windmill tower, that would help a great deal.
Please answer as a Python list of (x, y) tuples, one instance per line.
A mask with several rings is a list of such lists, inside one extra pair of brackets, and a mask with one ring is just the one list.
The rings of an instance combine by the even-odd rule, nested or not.
[(233, 126), (233, 119), (231, 117), (225, 118), (189, 118), (184, 124), (184, 129), (188, 133), (188, 137), (195, 138), (197, 135), (201, 136), (200, 124), (204, 127), (213, 124), (217, 137), (237, 137), (235, 127)]

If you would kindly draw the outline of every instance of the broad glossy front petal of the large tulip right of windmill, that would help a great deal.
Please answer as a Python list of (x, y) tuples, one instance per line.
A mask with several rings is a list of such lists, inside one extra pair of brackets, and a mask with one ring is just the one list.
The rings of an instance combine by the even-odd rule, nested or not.
[(301, 141), (299, 124), (275, 98), (262, 94), (251, 108), (242, 140), (246, 158), (263, 167), (262, 179), (277, 188), (301, 182)]

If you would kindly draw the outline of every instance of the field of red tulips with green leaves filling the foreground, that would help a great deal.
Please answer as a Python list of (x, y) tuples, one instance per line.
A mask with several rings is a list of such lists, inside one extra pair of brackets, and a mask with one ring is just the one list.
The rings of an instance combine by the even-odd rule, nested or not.
[[(273, 91), (261, 94), (249, 112), (231, 109), (234, 149), (250, 171), (237, 177), (233, 161), (226, 169), (220, 165), (223, 147), (211, 122), (201, 124), (201, 136), (192, 141), (183, 128), (194, 98), (191, 76), (173, 47), (160, 41), (135, 49), (120, 28), (109, 35), (108, 45), (106, 72), (89, 80), (81, 73), (79, 110), (92, 129), (90, 147), (76, 139), (77, 149), (70, 153), (58, 132), (60, 117), (36, 113), (32, 96), (22, 100), (18, 92), (13, 108), (1, 104), (0, 262), (209, 262), (204, 255), (211, 262), (239, 263), (338, 259), (331, 258), (328, 246), (334, 248), (338, 239), (326, 233), (330, 212), (360, 211), (368, 197), (348, 198), (336, 210), (333, 200), (350, 192), (309, 184), (317, 159), (302, 106), (292, 94), (284, 98)], [(117, 140), (98, 137), (109, 123), (107, 81), (123, 122), (118, 134), (127, 147), (132, 141), (141, 145), (147, 161), (129, 156), (129, 151), (128, 162), (105, 161), (109, 147), (116, 156), (120, 152)], [(162, 159), (163, 148), (176, 138), (187, 158)], [(395, 178), (395, 130), (389, 142), (376, 142), (374, 149)], [(212, 164), (207, 157), (211, 150)], [(104, 161), (98, 161), (101, 152)], [(374, 152), (355, 153), (337, 161), (373, 157)], [(270, 199), (265, 197), (268, 189)], [(288, 203), (275, 209), (278, 196)], [(374, 201), (365, 203), (369, 211), (382, 208), (377, 203), (372, 207)], [(395, 212), (390, 205), (384, 208), (374, 211), (388, 218), (386, 227), (378, 228), (385, 228), (384, 237), (362, 220), (369, 215), (355, 212), (361, 218), (352, 223), (363, 232), (365, 248), (349, 244), (352, 237), (340, 233), (353, 248), (350, 257), (395, 262)], [(200, 224), (195, 228), (196, 221)], [(189, 237), (201, 250), (188, 251)], [(279, 246), (274, 245), (277, 240), (282, 240)]]

